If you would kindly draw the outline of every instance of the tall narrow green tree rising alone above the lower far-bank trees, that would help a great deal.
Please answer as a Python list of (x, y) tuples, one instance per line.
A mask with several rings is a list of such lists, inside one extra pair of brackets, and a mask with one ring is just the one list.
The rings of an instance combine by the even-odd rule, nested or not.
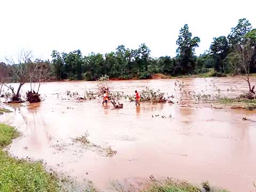
[(176, 42), (178, 45), (176, 52), (178, 53), (177, 59), (182, 74), (191, 73), (195, 69), (195, 48), (198, 47), (199, 43), (200, 38), (192, 38), (192, 34), (189, 32), (187, 24), (181, 28), (179, 38)]

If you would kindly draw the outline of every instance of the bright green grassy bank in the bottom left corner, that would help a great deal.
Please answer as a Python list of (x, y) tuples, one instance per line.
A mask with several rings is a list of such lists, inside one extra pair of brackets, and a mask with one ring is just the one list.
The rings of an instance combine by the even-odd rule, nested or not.
[[(12, 126), (0, 124), (1, 148), (10, 144), (18, 132)], [(0, 191), (59, 191), (59, 181), (47, 173), (41, 162), (28, 162), (10, 157), (0, 148)]]

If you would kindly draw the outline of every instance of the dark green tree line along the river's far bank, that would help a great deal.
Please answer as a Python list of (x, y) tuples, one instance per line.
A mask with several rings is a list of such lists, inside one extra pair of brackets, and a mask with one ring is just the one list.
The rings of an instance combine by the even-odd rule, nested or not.
[[(141, 44), (138, 49), (119, 45), (115, 51), (106, 54), (83, 55), (80, 50), (69, 53), (59, 53), (54, 50), (51, 61), (27, 62), (43, 62), (48, 66), (50, 76), (58, 80), (94, 81), (105, 74), (109, 78), (116, 79), (147, 79), (154, 74), (179, 76), (210, 73), (209, 71), (211, 76), (222, 76), (229, 73), (247, 73), (245, 64), (246, 67), (249, 66), (250, 73), (256, 73), (256, 29), (252, 29), (248, 20), (239, 19), (237, 26), (231, 28), (230, 34), (214, 37), (209, 50), (196, 56), (195, 49), (199, 43), (200, 38), (193, 37), (189, 26), (185, 25), (180, 29), (176, 42), (177, 55), (173, 58), (169, 56), (153, 58), (149, 47)], [(246, 62), (242, 62), (244, 60)], [(24, 63), (20, 62), (11, 67), (19, 68), (22, 64)], [(4, 66), (4, 63), (1, 65)], [(15, 78), (17, 76), (12, 76), (14, 82), (18, 81)]]

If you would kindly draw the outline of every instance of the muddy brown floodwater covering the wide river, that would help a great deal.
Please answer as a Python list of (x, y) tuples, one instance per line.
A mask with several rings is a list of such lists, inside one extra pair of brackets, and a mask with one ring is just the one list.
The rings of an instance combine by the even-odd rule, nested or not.
[[(179, 79), (187, 90), (229, 96), (247, 90), (241, 78)], [(252, 78), (256, 84), (256, 78)], [(124, 109), (102, 107), (101, 99), (63, 100), (66, 91), (93, 90), (96, 82), (55, 82), (41, 87), (44, 101), (13, 105), (14, 113), (0, 116), (22, 133), (10, 153), (19, 158), (43, 159), (54, 170), (66, 172), (77, 182), (90, 179), (102, 190), (118, 180), (140, 185), (150, 175), (174, 177), (195, 184), (208, 180), (230, 191), (253, 191), (256, 181), (256, 111), (181, 107), (174, 104), (123, 101)], [(175, 79), (110, 81), (110, 90), (133, 94), (146, 86), (179, 97)], [(17, 86), (14, 84), (14, 86)], [(233, 91), (227, 91), (227, 88)], [(23, 93), (29, 85), (22, 87)], [(175, 89), (175, 90), (174, 90)], [(238, 90), (237, 90), (238, 89)], [(192, 101), (191, 101), (192, 102)], [(172, 118), (162, 118), (162, 115)], [(154, 118), (152, 117), (154, 115)], [(156, 117), (155, 115), (159, 115)], [(117, 150), (113, 157), (86, 149), (70, 138), (90, 133), (89, 140)]]

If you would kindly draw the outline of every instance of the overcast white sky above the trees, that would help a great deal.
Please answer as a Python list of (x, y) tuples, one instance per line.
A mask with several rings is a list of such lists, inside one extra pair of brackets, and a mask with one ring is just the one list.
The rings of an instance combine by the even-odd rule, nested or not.
[(200, 54), (240, 18), (255, 28), (255, 6), (255, 0), (1, 0), (0, 58), (20, 49), (46, 59), (52, 50), (106, 53), (141, 43), (153, 57), (173, 57), (186, 23), (201, 38)]

